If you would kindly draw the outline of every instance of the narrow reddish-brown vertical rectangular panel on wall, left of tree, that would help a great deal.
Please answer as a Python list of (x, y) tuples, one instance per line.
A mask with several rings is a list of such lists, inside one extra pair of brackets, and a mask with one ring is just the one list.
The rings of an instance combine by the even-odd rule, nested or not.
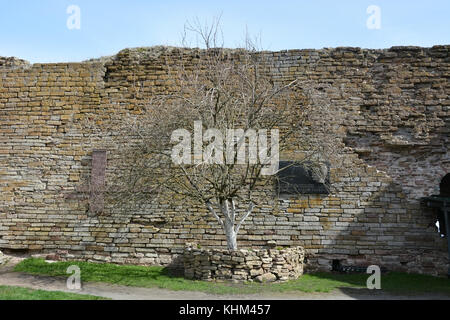
[(106, 150), (94, 150), (92, 152), (91, 185), (89, 194), (90, 214), (101, 213), (103, 211), (105, 182)]

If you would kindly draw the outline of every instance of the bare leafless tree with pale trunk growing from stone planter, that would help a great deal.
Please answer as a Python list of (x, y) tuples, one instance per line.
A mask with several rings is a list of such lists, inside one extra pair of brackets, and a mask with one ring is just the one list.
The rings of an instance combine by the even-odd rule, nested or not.
[(176, 89), (153, 95), (141, 114), (121, 119), (136, 139), (123, 149), (129, 169), (114, 181), (113, 196), (120, 189), (128, 201), (173, 194), (201, 203), (235, 250), (257, 191), (276, 179), (278, 157), (292, 150), (306, 150), (297, 162), (322, 157), (301, 136), (308, 105), (301, 87), (307, 83), (274, 81), (269, 56), (248, 38), (245, 49), (213, 48), (218, 26), (189, 24), (207, 49), (198, 51), (195, 64), (178, 51), (177, 64), (167, 65)]

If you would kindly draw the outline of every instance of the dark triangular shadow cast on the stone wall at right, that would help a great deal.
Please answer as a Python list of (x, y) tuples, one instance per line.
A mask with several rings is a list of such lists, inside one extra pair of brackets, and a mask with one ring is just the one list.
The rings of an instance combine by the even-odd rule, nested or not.
[(402, 186), (392, 181), (366, 193), (359, 201), (354, 200), (354, 207), (348, 211), (354, 214), (346, 214), (344, 209), (341, 216), (334, 215), (336, 223), (340, 222), (334, 226), (336, 236), (327, 236), (322, 224), (321, 238), (332, 238), (317, 254), (325, 260), (322, 267), (332, 270), (333, 263), (378, 265), (394, 271), (446, 274), (446, 240), (435, 226), (435, 213), (421, 207), (419, 201), (408, 200)]

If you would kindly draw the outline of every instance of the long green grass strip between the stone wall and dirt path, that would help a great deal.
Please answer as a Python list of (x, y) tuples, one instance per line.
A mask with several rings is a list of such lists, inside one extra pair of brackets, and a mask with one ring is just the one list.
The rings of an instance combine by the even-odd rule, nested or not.
[[(50, 276), (69, 276), (70, 265), (78, 265), (81, 280), (107, 282), (136, 287), (158, 287), (169, 290), (202, 291), (215, 294), (249, 294), (262, 292), (330, 292), (337, 288), (365, 288), (368, 274), (305, 274), (297, 280), (283, 283), (230, 284), (188, 280), (171, 276), (163, 267), (99, 264), (89, 262), (47, 263), (30, 258), (20, 262), (15, 271)], [(390, 272), (381, 277), (381, 287), (392, 293), (444, 293), (450, 295), (450, 280), (427, 275)]]

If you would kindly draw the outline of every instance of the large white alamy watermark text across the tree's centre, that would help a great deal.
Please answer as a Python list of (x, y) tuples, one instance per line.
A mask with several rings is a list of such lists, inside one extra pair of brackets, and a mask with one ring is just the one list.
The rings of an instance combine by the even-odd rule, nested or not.
[[(219, 129), (203, 132), (201, 121), (194, 121), (194, 138), (186, 129), (172, 132), (172, 161), (175, 164), (261, 164), (262, 175), (273, 175), (279, 165), (279, 131), (267, 129)], [(192, 152), (193, 140), (193, 152)], [(246, 143), (248, 141), (248, 143)], [(207, 143), (204, 147), (204, 143)], [(270, 149), (270, 155), (269, 155)], [(248, 157), (246, 150), (248, 150)]]

